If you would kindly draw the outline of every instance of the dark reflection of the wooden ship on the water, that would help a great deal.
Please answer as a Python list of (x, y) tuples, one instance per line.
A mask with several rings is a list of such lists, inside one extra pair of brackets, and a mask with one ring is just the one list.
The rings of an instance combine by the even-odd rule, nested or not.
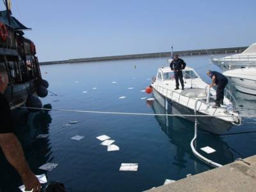
[[(48, 111), (31, 113), (26, 109), (16, 109), (13, 111), (13, 120), (15, 134), (22, 144), (31, 170), (36, 175), (46, 174), (45, 171), (38, 170), (38, 167), (52, 160), (50, 140), (36, 137), (39, 134), (49, 134), (51, 114)], [(3, 152), (0, 152), (0, 162), (0, 191), (20, 191), (19, 186), (22, 185), (22, 180), (19, 173), (6, 161)]]

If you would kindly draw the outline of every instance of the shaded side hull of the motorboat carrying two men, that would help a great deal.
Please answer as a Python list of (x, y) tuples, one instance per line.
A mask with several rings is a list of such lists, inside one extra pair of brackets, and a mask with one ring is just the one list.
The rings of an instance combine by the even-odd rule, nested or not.
[[(154, 97), (156, 98), (157, 102), (166, 109), (168, 113), (178, 114), (178, 115), (193, 115), (194, 110), (179, 104), (167, 97), (161, 95), (161, 93), (157, 92), (157, 90), (153, 89)], [(205, 115), (204, 113), (197, 113), (198, 115)], [(186, 118), (191, 122), (195, 122), (194, 116), (182, 116), (182, 118)], [(212, 118), (212, 117), (198, 117), (198, 124), (199, 127), (204, 129), (205, 131), (212, 132), (214, 134), (223, 134), (227, 132), (231, 127), (231, 122), (226, 122), (225, 120), (221, 120), (219, 118)]]

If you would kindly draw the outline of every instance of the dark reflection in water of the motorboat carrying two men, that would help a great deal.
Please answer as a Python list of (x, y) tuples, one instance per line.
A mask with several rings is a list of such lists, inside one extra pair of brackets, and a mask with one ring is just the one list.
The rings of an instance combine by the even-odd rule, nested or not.
[[(157, 101), (154, 101), (152, 104), (152, 109), (154, 110), (154, 113), (166, 113), (164, 108)], [(178, 166), (179, 169), (182, 169), (186, 168), (188, 159), (193, 159), (193, 161), (195, 161), (196, 172), (202, 172), (205, 163), (202, 163), (202, 161), (197, 159), (190, 148), (190, 141), (194, 136), (194, 124), (179, 117), (155, 116), (155, 118), (162, 131), (170, 138), (170, 143), (177, 147), (173, 164)], [(206, 146), (214, 148), (216, 152), (205, 154), (200, 148)], [(234, 153), (239, 156), (238, 152), (230, 148), (227, 143), (221, 139), (221, 136), (204, 132), (203, 129), (199, 129), (198, 131), (196, 150), (205, 157), (220, 164), (233, 162), (235, 160)], [(211, 167), (209, 166), (209, 168)]]

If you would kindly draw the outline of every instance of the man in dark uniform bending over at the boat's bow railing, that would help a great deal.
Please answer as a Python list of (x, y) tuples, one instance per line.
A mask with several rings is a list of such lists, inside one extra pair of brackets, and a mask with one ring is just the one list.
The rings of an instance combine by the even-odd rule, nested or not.
[(223, 105), (224, 90), (225, 86), (228, 84), (228, 79), (220, 72), (211, 70), (207, 72), (207, 76), (211, 77), (212, 79), (210, 87), (214, 86), (215, 84), (217, 85), (215, 106), (213, 106), (213, 108), (220, 108), (220, 105)]

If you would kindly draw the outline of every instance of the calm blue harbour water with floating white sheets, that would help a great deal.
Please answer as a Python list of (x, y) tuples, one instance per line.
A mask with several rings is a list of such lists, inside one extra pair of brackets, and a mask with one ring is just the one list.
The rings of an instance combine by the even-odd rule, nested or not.
[[(206, 56), (183, 59), (208, 83), (210, 79), (205, 72), (220, 70), (209, 65)], [(164, 113), (156, 101), (141, 100), (150, 95), (140, 92), (161, 66), (166, 66), (166, 58), (42, 66), (42, 75), (50, 83), (49, 90), (58, 94), (49, 93), (42, 102), (54, 109)], [(119, 99), (122, 96), (126, 98)], [(255, 114), (255, 97), (236, 92), (236, 98), (242, 114)], [(193, 155), (190, 141), (194, 124), (182, 118), (169, 117), (167, 125), (163, 116), (29, 113), (24, 109), (15, 111), (15, 116), (17, 135), (33, 172), (45, 173), (49, 181), (63, 182), (68, 191), (143, 191), (163, 185), (165, 179), (178, 180), (189, 173), (211, 169)], [(63, 126), (70, 121), (77, 124)], [(231, 132), (255, 131), (255, 124), (253, 119), (244, 119), (243, 125), (232, 127)], [(49, 137), (36, 139), (38, 134), (49, 134)], [(120, 150), (108, 152), (106, 146), (100, 145), (96, 137), (102, 134), (115, 140)], [(75, 135), (84, 139), (70, 140)], [(254, 132), (216, 136), (200, 130), (196, 148), (204, 156), (227, 164), (254, 155), (255, 144)], [(205, 146), (216, 152), (205, 154), (200, 150)], [(59, 165), (51, 172), (38, 169), (49, 162)], [(121, 163), (138, 163), (138, 172), (120, 172)], [(20, 177), (6, 163), (3, 154), (1, 166), (3, 191), (19, 191)]]

